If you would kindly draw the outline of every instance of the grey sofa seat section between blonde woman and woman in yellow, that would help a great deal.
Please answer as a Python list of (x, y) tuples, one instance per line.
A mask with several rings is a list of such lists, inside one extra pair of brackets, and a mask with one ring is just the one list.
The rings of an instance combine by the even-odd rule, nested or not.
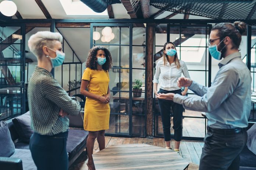
[(88, 131), (69, 129), (67, 139), (67, 152), (69, 159), (72, 158), (79, 149), (86, 144)]

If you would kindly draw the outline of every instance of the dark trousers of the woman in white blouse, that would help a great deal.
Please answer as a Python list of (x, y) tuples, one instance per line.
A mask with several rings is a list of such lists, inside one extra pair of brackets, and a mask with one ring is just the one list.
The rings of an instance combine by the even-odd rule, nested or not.
[[(167, 91), (160, 89), (158, 93), (178, 93), (181, 95), (181, 89)], [(164, 131), (164, 140), (170, 141), (171, 140), (171, 110), (173, 111), (173, 129), (174, 129), (174, 140), (181, 141), (181, 132), (182, 132), (182, 112), (183, 106), (178, 103), (174, 103), (172, 100), (163, 100), (158, 99), (160, 113), (162, 117), (163, 123), (163, 131)]]

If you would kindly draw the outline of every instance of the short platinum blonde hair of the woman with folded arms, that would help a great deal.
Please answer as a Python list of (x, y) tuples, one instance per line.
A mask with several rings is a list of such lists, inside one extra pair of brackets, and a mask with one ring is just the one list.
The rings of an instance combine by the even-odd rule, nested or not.
[(60, 33), (49, 31), (39, 31), (33, 34), (28, 40), (29, 50), (38, 58), (43, 55), (43, 46), (53, 48), (55, 41), (62, 42), (63, 37)]

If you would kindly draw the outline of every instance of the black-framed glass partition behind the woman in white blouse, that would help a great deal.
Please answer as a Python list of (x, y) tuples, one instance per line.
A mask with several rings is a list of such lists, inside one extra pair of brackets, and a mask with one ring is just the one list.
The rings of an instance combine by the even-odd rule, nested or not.
[[(167, 41), (175, 44), (180, 60), (183, 60), (188, 67), (192, 80), (208, 86), (211, 82), (211, 58), (208, 52), (208, 38), (211, 25), (184, 25), (184, 24), (159, 24), (155, 32), (155, 66), (162, 60), (163, 46)], [(184, 76), (184, 75), (182, 75)], [(161, 78), (158, 89), (160, 88)], [(188, 90), (187, 95), (194, 93)], [(155, 95), (154, 95), (155, 96)], [(171, 111), (170, 111), (171, 112)], [(184, 110), (182, 114), (182, 138), (202, 140), (206, 133), (207, 120), (201, 112)], [(171, 136), (174, 137), (173, 117), (171, 117)], [(163, 126), (159, 110), (159, 104), (154, 97), (154, 136), (163, 137)]]

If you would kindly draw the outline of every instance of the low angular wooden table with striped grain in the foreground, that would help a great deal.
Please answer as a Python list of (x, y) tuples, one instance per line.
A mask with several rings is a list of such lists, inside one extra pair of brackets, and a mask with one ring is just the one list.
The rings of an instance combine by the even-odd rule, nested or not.
[(184, 170), (189, 163), (177, 152), (148, 144), (113, 145), (93, 154), (97, 170)]

